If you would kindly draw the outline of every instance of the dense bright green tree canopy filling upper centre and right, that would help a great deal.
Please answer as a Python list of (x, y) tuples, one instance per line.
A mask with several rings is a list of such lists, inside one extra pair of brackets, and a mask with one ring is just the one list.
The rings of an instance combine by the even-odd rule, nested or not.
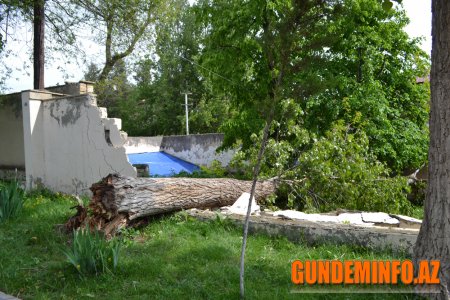
[[(269, 106), (264, 93), (277, 73), (283, 75), (278, 96), (292, 99), (304, 113), (291, 127), (296, 124), (323, 136), (344, 120), (353, 130), (367, 133), (371, 152), (393, 170), (421, 167), (428, 145), (429, 86), (417, 84), (416, 77), (426, 76), (429, 62), (418, 40), (403, 31), (408, 23), (404, 12), (385, 10), (377, 0), (325, 3), (322, 11), (303, 8), (308, 11), (303, 17), (313, 22), (293, 32), (292, 48), (279, 29), (289, 19), (282, 10), (273, 12), (276, 38), (271, 36), (268, 47), (264, 20), (257, 17), (264, 13), (263, 3), (200, 3), (200, 15), (208, 24), (200, 61), (229, 79), (211, 77), (216, 89), (232, 95), (239, 111), (221, 126), (225, 146), (253, 144), (250, 136), (262, 129), (263, 111)], [(271, 73), (264, 49), (273, 50), (279, 62), (285, 55), (288, 67), (276, 66)], [(285, 118), (275, 117), (278, 122)]]

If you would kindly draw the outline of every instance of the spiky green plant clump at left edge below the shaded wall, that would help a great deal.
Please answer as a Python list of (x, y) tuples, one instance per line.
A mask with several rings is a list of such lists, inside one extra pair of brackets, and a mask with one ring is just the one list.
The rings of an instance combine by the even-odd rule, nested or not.
[(0, 186), (0, 223), (17, 217), (25, 201), (24, 191), (18, 181), (13, 180)]

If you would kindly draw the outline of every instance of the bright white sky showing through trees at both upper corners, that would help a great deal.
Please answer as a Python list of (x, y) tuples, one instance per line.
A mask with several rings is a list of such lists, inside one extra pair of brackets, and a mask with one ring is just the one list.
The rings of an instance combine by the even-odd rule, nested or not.
[[(410, 37), (423, 37), (421, 47), (428, 54), (431, 54), (431, 0), (403, 0), (402, 3), (411, 20), (405, 31)], [(5, 92), (8, 93), (28, 90), (33, 87), (32, 62), (29, 54), (32, 43), (31, 27), (22, 28), (15, 34), (22, 38), (20, 42), (8, 41), (7, 43), (6, 50), (11, 50), (16, 54), (5, 60), (5, 65), (13, 70), (12, 76), (6, 81), (7, 90)], [(98, 46), (88, 39), (81, 41), (81, 43), (88, 61), (101, 62), (102, 54)], [(80, 66), (76, 62), (65, 64), (64, 59), (56, 56), (52, 61), (46, 62), (45, 86), (62, 85), (65, 81), (79, 81), (82, 79), (86, 68), (87, 66)]]

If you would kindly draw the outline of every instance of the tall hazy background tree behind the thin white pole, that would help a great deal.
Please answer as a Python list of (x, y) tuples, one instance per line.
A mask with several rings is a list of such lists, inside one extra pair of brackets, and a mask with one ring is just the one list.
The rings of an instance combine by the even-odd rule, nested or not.
[[(171, 4), (176, 13), (170, 22), (156, 28), (154, 55), (139, 61), (135, 92), (120, 103), (119, 116), (124, 128), (133, 135), (183, 134), (186, 123), (181, 92), (191, 93), (190, 111), (201, 110), (206, 114), (208, 108), (203, 103), (213, 102), (195, 62), (201, 32), (195, 24), (193, 10), (185, 0), (172, 1)], [(202, 105), (199, 105), (199, 100), (202, 100)], [(226, 114), (226, 110), (217, 114)], [(204, 126), (207, 121), (194, 116), (195, 122), (189, 126), (191, 132), (217, 129), (217, 126)]]

